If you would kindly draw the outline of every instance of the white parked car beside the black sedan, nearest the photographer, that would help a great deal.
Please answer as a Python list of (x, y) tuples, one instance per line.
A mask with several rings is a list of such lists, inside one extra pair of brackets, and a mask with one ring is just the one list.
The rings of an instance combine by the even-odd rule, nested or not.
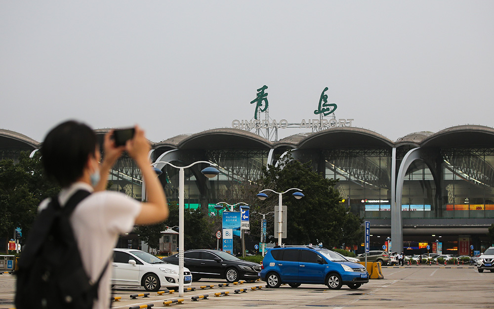
[[(177, 265), (141, 250), (113, 249), (112, 285), (143, 286), (156, 292), (162, 287), (177, 287), (178, 280)], [(184, 286), (191, 282), (190, 270), (184, 268)]]

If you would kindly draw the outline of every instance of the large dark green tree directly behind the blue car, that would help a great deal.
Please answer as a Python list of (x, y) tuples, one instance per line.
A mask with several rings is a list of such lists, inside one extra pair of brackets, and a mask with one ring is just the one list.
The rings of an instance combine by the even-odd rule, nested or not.
[[(334, 190), (337, 180), (313, 172), (310, 162), (283, 161), (278, 166), (269, 166), (263, 169), (258, 182), (261, 186), (273, 186), (277, 192), (293, 187), (303, 190), (305, 197), (300, 200), (290, 196), (293, 192), (283, 196), (288, 215), (286, 244), (323, 243), (326, 247), (339, 247), (355, 245), (363, 239), (362, 220), (339, 203), (339, 193)], [(259, 208), (267, 206), (273, 210), (278, 198), (267, 193), (271, 198), (259, 202)]]

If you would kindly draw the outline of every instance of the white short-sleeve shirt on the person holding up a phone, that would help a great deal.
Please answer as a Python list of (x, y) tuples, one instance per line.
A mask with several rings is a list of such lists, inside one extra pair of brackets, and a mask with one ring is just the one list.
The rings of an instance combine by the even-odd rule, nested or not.
[[(93, 192), (84, 182), (76, 182), (62, 189), (58, 195), (62, 207), (78, 190)], [(49, 199), (41, 202), (39, 211), (45, 208)], [(119, 235), (132, 230), (141, 203), (114, 191), (95, 192), (77, 205), (71, 217), (72, 228), (81, 252), (82, 264), (91, 280), (96, 281), (109, 259)], [(103, 275), (98, 289), (98, 302), (93, 309), (110, 308), (111, 263)]]

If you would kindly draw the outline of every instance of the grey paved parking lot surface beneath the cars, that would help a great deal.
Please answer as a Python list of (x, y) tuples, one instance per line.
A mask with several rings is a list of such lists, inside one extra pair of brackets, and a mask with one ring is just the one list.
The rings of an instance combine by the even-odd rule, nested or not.
[[(219, 288), (225, 281), (194, 282), (196, 291), (184, 294), (183, 305), (165, 307), (165, 300), (177, 299), (178, 294), (160, 295), (150, 293), (149, 298), (131, 300), (130, 294), (143, 293), (143, 289), (118, 287), (114, 296), (122, 301), (114, 302), (113, 308), (127, 309), (131, 306), (154, 304), (153, 308), (212, 309), (247, 308), (261, 309), (323, 307), (342, 308), (494, 308), (494, 273), (479, 273), (473, 267), (405, 266), (383, 267), (384, 279), (371, 280), (357, 290), (343, 286), (332, 291), (323, 285), (304, 285), (279, 289), (265, 288), (265, 282)], [(0, 276), (0, 309), (13, 308), (14, 277)], [(214, 289), (200, 290), (201, 285), (215, 284)], [(250, 287), (262, 285), (261, 290)], [(247, 288), (247, 293), (234, 294), (235, 289)], [(229, 296), (214, 297), (215, 292), (230, 291)], [(192, 296), (208, 294), (209, 299), (191, 301)]]

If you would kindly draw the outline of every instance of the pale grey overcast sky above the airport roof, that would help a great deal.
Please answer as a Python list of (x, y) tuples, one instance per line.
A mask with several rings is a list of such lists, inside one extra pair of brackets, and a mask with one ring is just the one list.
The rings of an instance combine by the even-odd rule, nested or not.
[[(66, 119), (149, 139), (252, 119), (337, 119), (396, 140), (493, 127), (494, 1), (0, 0), (0, 128)], [(310, 132), (285, 129), (281, 136)]]

